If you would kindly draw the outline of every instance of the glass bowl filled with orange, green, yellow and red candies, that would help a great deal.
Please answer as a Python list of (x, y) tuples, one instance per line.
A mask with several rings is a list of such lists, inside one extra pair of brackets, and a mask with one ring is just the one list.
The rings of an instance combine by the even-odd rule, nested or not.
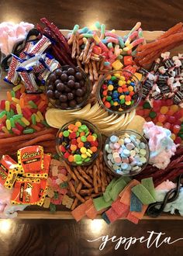
[(101, 147), (101, 133), (86, 120), (66, 123), (57, 133), (57, 153), (67, 164), (89, 165), (98, 157)]

